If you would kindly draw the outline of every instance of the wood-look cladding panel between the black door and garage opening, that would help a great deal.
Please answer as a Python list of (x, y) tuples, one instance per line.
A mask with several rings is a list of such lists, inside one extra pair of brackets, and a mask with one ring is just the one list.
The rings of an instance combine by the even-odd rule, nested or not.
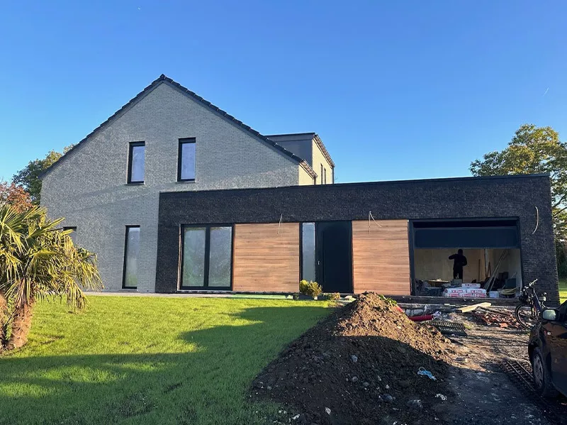
[(407, 220), (383, 220), (370, 224), (352, 222), (354, 292), (376, 291), (409, 295), (410, 248)]

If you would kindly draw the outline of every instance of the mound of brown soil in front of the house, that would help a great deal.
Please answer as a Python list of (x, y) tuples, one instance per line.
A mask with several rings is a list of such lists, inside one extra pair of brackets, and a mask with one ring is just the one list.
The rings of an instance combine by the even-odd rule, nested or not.
[(439, 331), (366, 293), (293, 341), (252, 394), (288, 406), (292, 424), (439, 424), (436, 412), (453, 397), (450, 355)]

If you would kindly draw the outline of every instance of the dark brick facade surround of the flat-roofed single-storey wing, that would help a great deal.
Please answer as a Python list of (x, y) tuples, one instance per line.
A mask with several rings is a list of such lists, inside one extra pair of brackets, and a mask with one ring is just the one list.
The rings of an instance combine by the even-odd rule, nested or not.
[(156, 291), (176, 290), (183, 223), (274, 223), (280, 215), (284, 222), (365, 220), (369, 211), (376, 220), (517, 217), (524, 281), (538, 278), (558, 302), (551, 189), (543, 175), (162, 193)]

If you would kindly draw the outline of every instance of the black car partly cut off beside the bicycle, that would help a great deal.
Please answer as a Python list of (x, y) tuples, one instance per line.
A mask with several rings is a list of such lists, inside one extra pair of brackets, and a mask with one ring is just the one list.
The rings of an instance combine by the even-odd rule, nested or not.
[(567, 396), (567, 302), (544, 309), (529, 335), (529, 360), (537, 390), (545, 397)]

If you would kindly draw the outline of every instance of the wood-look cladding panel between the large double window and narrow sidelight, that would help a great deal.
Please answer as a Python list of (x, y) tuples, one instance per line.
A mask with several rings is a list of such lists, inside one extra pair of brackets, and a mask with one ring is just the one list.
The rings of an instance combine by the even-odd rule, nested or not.
[(236, 224), (232, 290), (298, 292), (299, 223)]

